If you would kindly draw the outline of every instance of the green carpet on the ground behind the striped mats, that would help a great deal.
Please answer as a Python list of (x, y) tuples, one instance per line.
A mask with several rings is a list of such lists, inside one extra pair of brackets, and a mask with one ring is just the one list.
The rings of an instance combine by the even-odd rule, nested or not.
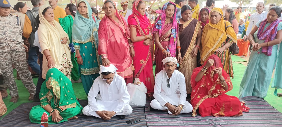
[[(241, 63), (236, 63), (236, 62), (244, 62), (244, 59), (242, 59), (242, 58), (233, 55), (232, 60), (234, 61), (233, 62), (234, 79), (232, 79), (233, 90), (227, 92), (227, 94), (238, 97), (239, 86), (240, 86), (240, 83), (241, 83), (241, 80), (242, 80), (242, 77), (243, 77), (243, 74), (245, 72), (246, 67)], [(155, 65), (153, 66), (153, 70), (155, 72)], [(16, 76), (16, 70), (14, 70), (14, 75)], [(15, 103), (15, 104), (10, 102), (10, 99), (11, 99), (10, 96), (8, 96), (7, 98), (4, 99), (4, 103), (6, 104), (6, 106), (8, 108), (8, 111), (5, 115), (7, 115), (9, 112), (11, 112), (13, 109), (15, 109), (17, 106), (19, 106), (22, 103), (32, 102), (32, 101), (28, 101), (29, 93), (28, 93), (28, 90), (23, 86), (21, 80), (15, 79), (15, 81), (16, 81), (16, 84), (18, 86), (20, 98), (19, 98), (18, 102)], [(37, 84), (38, 78), (33, 78), (33, 81), (34, 81), (34, 84)], [(73, 83), (73, 89), (74, 89), (74, 93), (75, 93), (77, 98), (82, 99), (82, 100), (87, 99), (87, 96), (84, 92), (82, 83)], [(271, 85), (270, 85), (269, 90), (267, 92), (267, 96), (265, 97), (265, 100), (271, 106), (276, 108), (279, 112), (282, 112), (282, 106), (280, 106), (280, 105), (282, 105), (282, 97), (274, 96), (273, 92), (274, 92), (274, 88), (271, 88)], [(8, 93), (9, 93), (9, 90), (8, 90)], [(282, 93), (282, 90), (278, 89), (278, 93)]]

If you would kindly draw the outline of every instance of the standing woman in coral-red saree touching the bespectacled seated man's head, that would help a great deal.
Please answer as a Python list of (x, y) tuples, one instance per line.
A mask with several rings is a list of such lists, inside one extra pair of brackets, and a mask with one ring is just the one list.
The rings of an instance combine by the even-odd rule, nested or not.
[(105, 16), (102, 18), (98, 29), (98, 54), (102, 58), (102, 65), (113, 64), (118, 68), (118, 75), (126, 83), (133, 83), (133, 66), (131, 57), (134, 56), (131, 44), (129, 27), (124, 18), (118, 14), (113, 1), (104, 2)]

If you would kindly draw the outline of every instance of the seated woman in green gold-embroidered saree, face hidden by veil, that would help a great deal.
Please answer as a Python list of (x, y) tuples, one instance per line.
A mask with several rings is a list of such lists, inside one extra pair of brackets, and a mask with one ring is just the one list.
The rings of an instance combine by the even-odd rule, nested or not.
[(83, 109), (76, 100), (71, 81), (57, 68), (48, 70), (39, 98), (40, 104), (30, 110), (30, 122), (40, 124), (44, 112), (49, 116), (49, 124), (66, 122), (78, 119), (76, 115)]

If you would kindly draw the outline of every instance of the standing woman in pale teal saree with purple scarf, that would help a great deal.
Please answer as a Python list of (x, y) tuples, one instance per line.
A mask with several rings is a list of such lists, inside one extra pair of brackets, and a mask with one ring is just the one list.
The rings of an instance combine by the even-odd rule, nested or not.
[[(280, 14), (276, 10), (280, 10)], [(279, 15), (281, 8), (270, 9), (267, 18), (257, 22), (250, 32), (252, 51), (240, 84), (239, 97), (266, 97), (277, 58), (277, 44), (282, 39), (282, 22), (277, 19)]]

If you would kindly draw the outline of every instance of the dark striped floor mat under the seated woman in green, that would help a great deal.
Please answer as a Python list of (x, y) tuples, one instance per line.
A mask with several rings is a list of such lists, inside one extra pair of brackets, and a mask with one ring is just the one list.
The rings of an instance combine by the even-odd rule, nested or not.
[[(79, 100), (81, 106), (86, 106), (86, 100)], [(14, 109), (0, 121), (0, 127), (39, 127), (40, 124), (31, 123), (29, 120), (29, 111), (33, 106), (39, 103), (25, 103)], [(131, 115), (125, 116), (125, 119), (119, 119), (116, 116), (106, 121), (100, 118), (78, 115), (78, 119), (62, 122), (59, 124), (49, 124), (49, 127), (146, 127), (144, 107), (133, 107)], [(128, 125), (126, 121), (138, 117), (138, 122)]]

